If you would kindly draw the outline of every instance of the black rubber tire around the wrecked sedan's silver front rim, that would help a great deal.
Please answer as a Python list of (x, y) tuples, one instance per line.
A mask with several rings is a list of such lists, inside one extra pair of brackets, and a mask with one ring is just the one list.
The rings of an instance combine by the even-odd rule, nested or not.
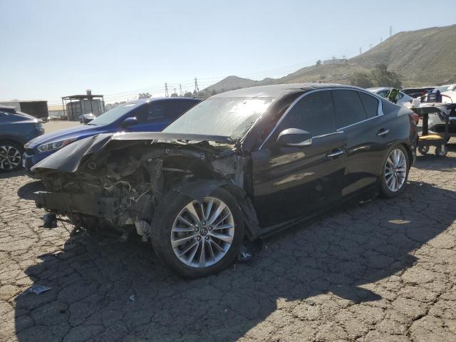
[[(185, 264), (175, 254), (171, 244), (172, 227), (180, 214), (181, 210), (194, 199), (184, 196), (178, 192), (170, 191), (165, 195), (155, 209), (155, 215), (152, 219), (151, 242), (157, 257), (173, 271), (184, 278), (200, 278), (214, 274), (226, 269), (233, 263), (239, 254), (244, 237), (244, 219), (239, 204), (234, 197), (222, 188), (212, 192), (210, 197), (221, 200), (227, 205), (234, 219), (234, 236), (232, 244), (226, 254), (211, 266), (196, 267)], [(189, 233), (191, 234), (191, 233)], [(206, 246), (203, 241), (203, 246)], [(199, 247), (197, 247), (199, 248)], [(199, 250), (199, 249), (197, 249)]]

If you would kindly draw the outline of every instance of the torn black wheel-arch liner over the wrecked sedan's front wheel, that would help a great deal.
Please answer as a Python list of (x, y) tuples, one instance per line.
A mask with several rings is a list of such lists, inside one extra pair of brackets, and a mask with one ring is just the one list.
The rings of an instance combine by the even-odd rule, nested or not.
[(219, 187), (223, 187), (238, 200), (239, 207), (241, 207), (241, 212), (244, 215), (247, 237), (251, 240), (259, 237), (261, 230), (258, 224), (257, 212), (255, 212), (252, 201), (240, 187), (237, 187), (226, 180), (202, 179), (179, 185), (174, 191), (202, 202), (204, 197), (211, 195), (212, 192)]

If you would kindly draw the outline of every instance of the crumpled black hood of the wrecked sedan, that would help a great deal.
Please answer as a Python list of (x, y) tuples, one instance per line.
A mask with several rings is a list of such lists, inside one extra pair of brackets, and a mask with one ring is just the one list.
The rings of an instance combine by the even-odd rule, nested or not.
[(78, 170), (81, 161), (94, 153), (103, 152), (110, 142), (126, 140), (129, 142), (219, 142), (233, 144), (234, 142), (223, 135), (199, 135), (182, 133), (163, 133), (163, 132), (141, 132), (141, 133), (105, 133), (95, 135), (73, 142), (53, 153), (49, 157), (41, 160), (34, 165), (31, 170), (39, 172), (41, 170), (57, 170), (62, 172), (75, 172)]

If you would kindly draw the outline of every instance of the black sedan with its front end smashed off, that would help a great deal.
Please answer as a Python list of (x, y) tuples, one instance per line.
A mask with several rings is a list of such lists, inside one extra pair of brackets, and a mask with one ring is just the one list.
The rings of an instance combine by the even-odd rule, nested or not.
[(416, 126), (361, 88), (285, 84), (214, 95), (160, 133), (100, 134), (34, 167), (37, 207), (78, 229), (132, 232), (181, 276), (336, 204), (405, 190)]

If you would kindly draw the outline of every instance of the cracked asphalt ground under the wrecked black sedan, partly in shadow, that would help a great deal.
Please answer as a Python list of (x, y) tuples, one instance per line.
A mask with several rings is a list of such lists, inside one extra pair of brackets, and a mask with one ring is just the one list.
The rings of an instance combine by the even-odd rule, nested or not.
[[(400, 198), (197, 281), (149, 244), (39, 228), (40, 183), (1, 175), (0, 341), (456, 341), (455, 167), (456, 152), (419, 157)], [(52, 289), (24, 294), (32, 284)]]

